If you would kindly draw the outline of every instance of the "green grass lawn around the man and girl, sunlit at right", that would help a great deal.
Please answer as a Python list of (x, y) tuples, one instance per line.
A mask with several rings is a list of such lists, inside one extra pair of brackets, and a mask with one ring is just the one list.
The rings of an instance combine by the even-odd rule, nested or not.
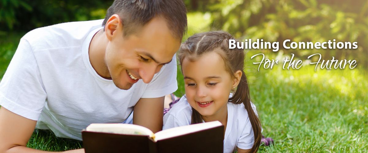
[[(24, 33), (0, 36), (0, 78)], [(252, 101), (257, 106), (263, 135), (275, 144), (261, 146), (260, 152), (367, 152), (368, 151), (368, 71), (314, 71), (260, 69), (251, 64), (248, 53), (245, 71), (250, 79)], [(181, 96), (184, 85), (178, 69)], [(80, 148), (81, 143), (34, 132), (28, 147), (48, 151)]]

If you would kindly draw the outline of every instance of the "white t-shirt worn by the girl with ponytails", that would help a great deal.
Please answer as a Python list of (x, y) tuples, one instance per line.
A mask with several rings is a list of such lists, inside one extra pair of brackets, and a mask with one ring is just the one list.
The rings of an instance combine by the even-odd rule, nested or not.
[[(252, 104), (252, 108), (256, 110)], [(256, 113), (257, 114), (257, 113)], [(190, 125), (192, 120), (192, 108), (186, 96), (163, 117), (163, 130), (173, 127)], [(239, 147), (240, 149), (251, 149), (254, 143), (252, 124), (248, 117), (248, 112), (243, 103), (227, 103), (227, 124), (224, 135), (224, 153), (232, 153)]]

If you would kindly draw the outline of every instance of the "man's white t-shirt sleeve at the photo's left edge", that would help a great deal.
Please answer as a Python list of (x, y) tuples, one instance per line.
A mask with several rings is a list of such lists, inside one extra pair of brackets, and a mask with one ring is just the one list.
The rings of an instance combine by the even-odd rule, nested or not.
[(38, 120), (46, 101), (31, 45), (21, 39), (0, 83), (0, 105), (13, 113)]

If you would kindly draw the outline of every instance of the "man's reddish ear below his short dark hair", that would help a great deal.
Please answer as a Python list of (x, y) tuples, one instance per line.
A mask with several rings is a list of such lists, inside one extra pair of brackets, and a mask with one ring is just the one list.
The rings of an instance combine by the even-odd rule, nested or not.
[(107, 39), (110, 41), (112, 38), (116, 35), (116, 33), (119, 33), (119, 31), (123, 30), (123, 24), (121, 23), (121, 19), (119, 15), (114, 14), (112, 15), (106, 22), (105, 25), (105, 34)]

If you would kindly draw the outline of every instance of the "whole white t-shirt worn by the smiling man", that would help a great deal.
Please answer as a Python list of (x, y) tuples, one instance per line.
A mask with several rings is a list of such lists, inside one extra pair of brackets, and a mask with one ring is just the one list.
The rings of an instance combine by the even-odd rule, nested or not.
[(177, 90), (176, 58), (155, 74), (121, 90), (89, 61), (92, 37), (103, 20), (69, 22), (32, 30), (20, 40), (0, 83), (0, 105), (37, 120), (36, 128), (81, 140), (91, 123), (122, 123), (140, 98)]

